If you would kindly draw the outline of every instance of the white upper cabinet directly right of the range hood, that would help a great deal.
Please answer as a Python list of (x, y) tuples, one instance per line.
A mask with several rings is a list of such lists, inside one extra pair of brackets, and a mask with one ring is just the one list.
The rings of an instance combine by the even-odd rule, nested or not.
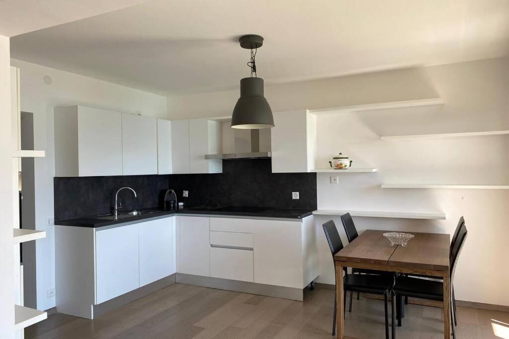
[(316, 115), (307, 110), (277, 112), (274, 125), (272, 173), (309, 172), (315, 168)]

